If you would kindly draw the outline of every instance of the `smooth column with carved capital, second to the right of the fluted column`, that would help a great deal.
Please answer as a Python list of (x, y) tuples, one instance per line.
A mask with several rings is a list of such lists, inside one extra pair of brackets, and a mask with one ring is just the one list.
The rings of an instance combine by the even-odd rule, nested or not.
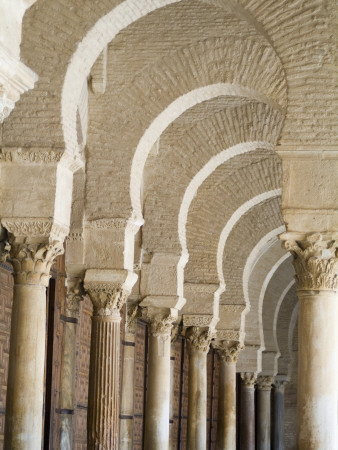
[(189, 327), (188, 450), (206, 450), (207, 445), (207, 354), (213, 335), (209, 329)]

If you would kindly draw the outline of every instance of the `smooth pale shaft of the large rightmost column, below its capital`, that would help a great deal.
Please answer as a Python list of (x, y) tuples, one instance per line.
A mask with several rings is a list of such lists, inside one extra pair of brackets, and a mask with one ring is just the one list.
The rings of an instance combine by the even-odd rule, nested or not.
[(303, 291), (298, 318), (298, 448), (338, 448), (338, 295)]

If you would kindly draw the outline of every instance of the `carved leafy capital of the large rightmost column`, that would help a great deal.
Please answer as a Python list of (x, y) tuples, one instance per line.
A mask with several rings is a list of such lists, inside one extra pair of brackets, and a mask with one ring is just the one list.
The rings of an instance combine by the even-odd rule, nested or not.
[(320, 233), (304, 235), (302, 240), (296, 240), (296, 237), (296, 234), (284, 233), (280, 239), (293, 255), (297, 289), (337, 290), (338, 240)]

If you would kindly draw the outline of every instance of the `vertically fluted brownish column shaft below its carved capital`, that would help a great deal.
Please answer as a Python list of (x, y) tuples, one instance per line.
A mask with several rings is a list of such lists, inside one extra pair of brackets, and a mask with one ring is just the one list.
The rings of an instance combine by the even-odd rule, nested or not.
[(120, 314), (93, 316), (88, 393), (88, 448), (118, 448)]

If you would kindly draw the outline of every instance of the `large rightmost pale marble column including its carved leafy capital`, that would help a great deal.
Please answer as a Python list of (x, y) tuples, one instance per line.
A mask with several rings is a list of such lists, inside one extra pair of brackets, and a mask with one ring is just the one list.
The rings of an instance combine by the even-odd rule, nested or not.
[(297, 442), (338, 448), (338, 233), (284, 233), (299, 297)]

